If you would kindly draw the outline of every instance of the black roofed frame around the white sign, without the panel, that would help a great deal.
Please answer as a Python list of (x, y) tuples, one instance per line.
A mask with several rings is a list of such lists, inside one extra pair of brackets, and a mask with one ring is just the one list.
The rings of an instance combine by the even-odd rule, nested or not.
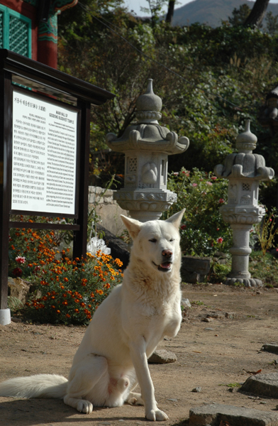
[[(12, 222), (11, 212), (11, 155), (13, 133), (13, 88), (14, 84), (29, 87), (32, 96), (47, 97), (48, 102), (72, 104), (79, 111), (77, 189), (74, 224), (50, 224)], [(18, 90), (18, 86), (16, 86)], [(7, 308), (9, 271), (9, 229), (70, 229), (74, 232), (73, 256), (86, 256), (87, 217), (89, 187), (89, 141), (91, 104), (101, 105), (115, 95), (75, 77), (55, 70), (10, 50), (0, 49), (0, 310)], [(58, 99), (58, 100), (57, 100)], [(26, 216), (38, 212), (16, 210)], [(66, 217), (65, 214), (42, 214), (43, 216)]]

